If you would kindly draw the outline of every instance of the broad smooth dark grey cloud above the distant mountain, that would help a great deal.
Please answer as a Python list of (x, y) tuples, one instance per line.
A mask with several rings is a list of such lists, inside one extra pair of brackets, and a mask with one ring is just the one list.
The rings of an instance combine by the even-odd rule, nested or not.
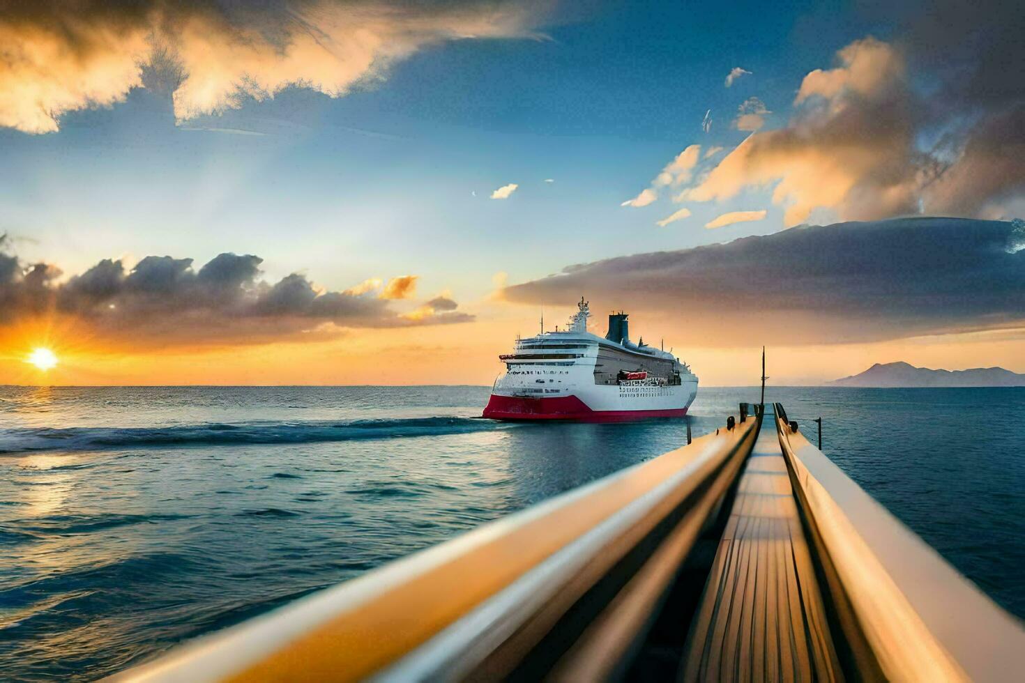
[(570, 266), (514, 302), (654, 313), (691, 344), (876, 341), (1025, 326), (1022, 224), (905, 218)]

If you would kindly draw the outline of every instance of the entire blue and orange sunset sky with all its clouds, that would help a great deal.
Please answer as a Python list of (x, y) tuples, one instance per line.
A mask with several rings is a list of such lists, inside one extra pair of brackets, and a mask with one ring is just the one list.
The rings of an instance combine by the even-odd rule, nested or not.
[(1025, 372), (1023, 24), (0, 0), (0, 383), (490, 384), (580, 296), (706, 386)]

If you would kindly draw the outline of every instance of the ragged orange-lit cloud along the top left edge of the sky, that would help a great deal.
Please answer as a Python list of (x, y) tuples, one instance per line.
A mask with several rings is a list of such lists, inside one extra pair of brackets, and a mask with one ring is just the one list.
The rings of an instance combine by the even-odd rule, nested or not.
[(532, 6), (382, 0), (232, 5), (142, 0), (112, 6), (4, 3), (0, 126), (57, 130), (63, 114), (102, 106), (151, 85), (155, 45), (177, 62), (178, 120), (237, 108), (292, 85), (332, 97), (420, 48), (464, 38), (536, 36)]

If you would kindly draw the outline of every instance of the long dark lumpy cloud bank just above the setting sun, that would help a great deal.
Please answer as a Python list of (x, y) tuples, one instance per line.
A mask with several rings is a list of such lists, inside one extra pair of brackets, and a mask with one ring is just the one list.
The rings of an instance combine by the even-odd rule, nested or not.
[[(474, 319), (466, 313), (399, 314), (373, 291), (324, 292), (298, 273), (270, 284), (260, 278), (262, 259), (253, 255), (220, 254), (198, 270), (189, 258), (148, 256), (130, 269), (120, 260), (104, 259), (61, 283), (59, 268), (24, 264), (7, 247), (0, 238), (0, 326), (66, 314), (100, 336), (175, 345), (256, 343), (337, 328)], [(456, 303), (450, 306), (438, 310), (454, 310)]]

